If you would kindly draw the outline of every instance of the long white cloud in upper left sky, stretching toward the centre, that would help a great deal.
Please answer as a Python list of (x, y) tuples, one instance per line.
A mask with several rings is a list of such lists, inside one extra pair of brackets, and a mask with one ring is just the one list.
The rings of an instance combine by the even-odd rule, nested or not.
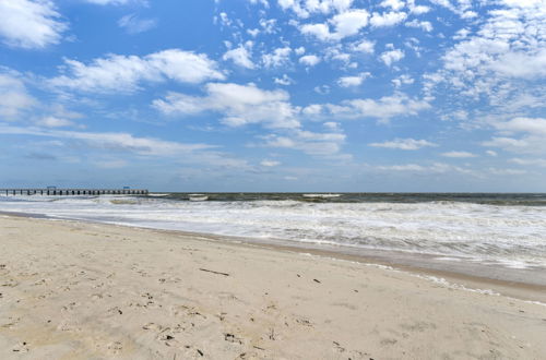
[(206, 55), (168, 49), (145, 57), (110, 55), (84, 64), (64, 59), (64, 72), (49, 80), (54, 87), (96, 93), (132, 93), (141, 82), (198, 84), (206, 80), (224, 80), (215, 61)]

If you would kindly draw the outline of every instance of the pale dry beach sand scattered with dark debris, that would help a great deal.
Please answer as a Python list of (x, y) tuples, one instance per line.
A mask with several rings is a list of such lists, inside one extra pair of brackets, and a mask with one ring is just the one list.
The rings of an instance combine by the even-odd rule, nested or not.
[(286, 249), (2, 216), (0, 358), (545, 359), (546, 307)]

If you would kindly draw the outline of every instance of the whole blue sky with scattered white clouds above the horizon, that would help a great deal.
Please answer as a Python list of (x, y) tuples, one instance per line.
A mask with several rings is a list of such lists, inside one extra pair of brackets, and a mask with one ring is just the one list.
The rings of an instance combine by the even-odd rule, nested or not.
[(546, 0), (0, 0), (0, 188), (546, 192)]

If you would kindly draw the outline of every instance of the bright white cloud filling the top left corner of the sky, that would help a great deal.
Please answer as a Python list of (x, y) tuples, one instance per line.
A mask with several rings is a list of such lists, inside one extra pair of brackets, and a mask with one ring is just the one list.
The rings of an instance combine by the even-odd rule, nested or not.
[(0, 37), (8, 46), (41, 49), (59, 44), (68, 28), (52, 1), (0, 1)]

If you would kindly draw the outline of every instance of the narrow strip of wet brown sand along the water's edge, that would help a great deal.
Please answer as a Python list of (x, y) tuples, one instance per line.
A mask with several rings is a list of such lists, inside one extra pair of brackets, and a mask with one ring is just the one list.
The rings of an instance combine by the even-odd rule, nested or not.
[[(379, 251), (379, 255), (370, 255), (360, 253), (351, 253), (352, 249), (345, 249), (348, 251), (343, 251), (343, 247), (336, 248), (337, 251), (331, 249), (324, 249), (328, 247), (306, 247), (306, 243), (296, 243), (290, 241), (283, 240), (272, 240), (272, 241), (260, 241), (261, 239), (252, 239), (252, 238), (244, 238), (244, 237), (235, 237), (235, 236), (222, 236), (215, 233), (206, 233), (206, 232), (192, 232), (192, 231), (183, 231), (183, 230), (169, 230), (169, 229), (158, 229), (151, 227), (140, 227), (134, 225), (119, 225), (119, 224), (108, 224), (102, 221), (91, 221), (91, 220), (81, 220), (81, 219), (70, 219), (70, 218), (56, 218), (50, 217), (43, 214), (27, 214), (27, 213), (10, 213), (10, 212), (0, 212), (0, 216), (14, 216), (14, 217), (23, 217), (31, 219), (43, 219), (43, 220), (51, 220), (51, 221), (67, 221), (67, 223), (75, 223), (75, 224), (95, 224), (102, 225), (106, 227), (114, 228), (131, 228), (131, 229), (140, 229), (147, 230), (151, 232), (158, 233), (168, 233), (173, 236), (181, 236), (181, 237), (194, 237), (204, 239), (207, 241), (219, 241), (234, 245), (247, 245), (247, 247), (257, 247), (263, 249), (270, 249), (273, 251), (288, 251), (298, 254), (312, 254), (321, 257), (335, 259), (341, 261), (349, 261), (361, 263), (366, 265), (377, 265), (377, 266), (385, 266), (391, 267), (394, 271), (406, 272), (408, 274), (413, 274), (414, 276), (423, 276), (428, 278), (430, 281), (442, 281), (446, 280), (452, 286), (462, 286), (463, 288), (467, 288), (470, 290), (478, 290), (478, 291), (491, 291), (494, 293), (498, 293), (501, 296), (512, 297), (514, 299), (524, 300), (524, 301), (537, 301), (544, 303), (546, 305), (546, 285), (536, 284), (536, 283), (525, 283), (519, 280), (510, 280), (502, 278), (492, 278), (487, 276), (479, 276), (477, 273), (479, 271), (479, 266), (476, 266), (476, 269), (473, 272), (461, 272), (453, 271), (448, 267), (450, 265), (446, 262), (438, 262), (437, 267), (431, 267), (430, 263), (425, 263), (424, 265), (418, 265), (417, 260), (419, 257), (427, 257), (426, 255), (415, 255), (408, 257), (389, 257), (385, 255), (384, 251)], [(320, 249), (322, 248), (322, 249)], [(342, 251), (340, 251), (342, 250)], [(393, 251), (394, 252), (394, 251)], [(395, 253), (395, 252), (394, 252)], [(406, 254), (404, 254), (406, 255)], [(436, 257), (435, 255), (430, 255), (430, 257)], [(428, 265), (428, 266), (427, 266)], [(485, 266), (485, 265), (482, 265)], [(505, 274), (509, 272), (513, 272), (513, 269), (503, 269)], [(530, 273), (532, 273), (530, 271)], [(532, 274), (530, 274), (532, 275)]]

